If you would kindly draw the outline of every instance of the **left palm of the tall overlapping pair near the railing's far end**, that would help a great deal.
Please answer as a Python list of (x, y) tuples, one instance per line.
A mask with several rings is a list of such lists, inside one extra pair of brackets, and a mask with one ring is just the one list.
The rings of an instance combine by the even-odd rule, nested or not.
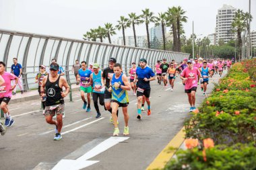
[(166, 26), (170, 26), (172, 29), (172, 36), (173, 36), (173, 51), (178, 50), (178, 36), (177, 36), (177, 21), (175, 17), (175, 10), (174, 7), (168, 7), (166, 11)]

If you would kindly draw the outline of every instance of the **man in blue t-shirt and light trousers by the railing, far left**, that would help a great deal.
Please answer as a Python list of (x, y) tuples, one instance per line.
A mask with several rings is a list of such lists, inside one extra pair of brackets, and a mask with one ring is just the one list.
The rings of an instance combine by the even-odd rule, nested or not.
[[(18, 77), (18, 85), (20, 87), (20, 91), (23, 94), (23, 86), (22, 86), (22, 65), (18, 63), (17, 58), (13, 58), (13, 65), (11, 65), (11, 73)], [(11, 82), (12, 84), (15, 83), (15, 81)], [(16, 94), (16, 87), (13, 89), (13, 95)]]

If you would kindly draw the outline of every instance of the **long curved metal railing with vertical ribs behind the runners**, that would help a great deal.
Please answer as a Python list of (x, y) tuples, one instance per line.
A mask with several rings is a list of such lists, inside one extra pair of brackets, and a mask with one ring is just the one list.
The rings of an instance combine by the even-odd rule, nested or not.
[(88, 65), (97, 62), (103, 69), (108, 67), (108, 59), (115, 57), (122, 65), (123, 72), (127, 73), (131, 62), (137, 63), (139, 58), (146, 58), (148, 66), (153, 68), (156, 61), (162, 58), (180, 61), (189, 58), (189, 54), (0, 29), (0, 60), (5, 62), (7, 71), (10, 71), (14, 57), (22, 64), (24, 90), (27, 91), (37, 87), (34, 77), (39, 66), (49, 68), (53, 58), (65, 69), (65, 78), (71, 84), (75, 83), (71, 73), (75, 60), (85, 60)]

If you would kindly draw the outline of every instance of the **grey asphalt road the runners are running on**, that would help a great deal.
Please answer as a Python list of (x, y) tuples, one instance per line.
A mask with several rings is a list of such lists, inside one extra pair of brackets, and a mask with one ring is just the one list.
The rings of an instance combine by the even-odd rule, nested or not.
[[(215, 75), (210, 79), (207, 93), (219, 78)], [(136, 97), (129, 92), (129, 138), (123, 136), (122, 112), (119, 112), (120, 138), (111, 138), (114, 127), (109, 122), (110, 113), (100, 106), (102, 118), (96, 119), (93, 103), (92, 111), (86, 113), (78, 91), (73, 92), (73, 102), (66, 99), (63, 138), (59, 141), (53, 140), (55, 126), (45, 122), (39, 99), (10, 104), (15, 124), (7, 129), (5, 136), (0, 136), (0, 169), (52, 169), (61, 159), (68, 159), (58, 164), (65, 167), (61, 169), (73, 166), (71, 160), (75, 166), (88, 165), (84, 169), (146, 169), (189, 116), (187, 94), (179, 77), (174, 91), (158, 85), (157, 81), (151, 85), (152, 115), (143, 113), (141, 121), (136, 118)], [(204, 98), (198, 87), (196, 106)]]

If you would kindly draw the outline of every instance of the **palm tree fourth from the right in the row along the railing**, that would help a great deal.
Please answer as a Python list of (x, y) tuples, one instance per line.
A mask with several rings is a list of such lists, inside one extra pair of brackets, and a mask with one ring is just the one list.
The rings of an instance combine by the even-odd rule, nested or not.
[(142, 15), (140, 15), (141, 18), (143, 18), (143, 22), (146, 24), (146, 31), (147, 31), (147, 38), (148, 38), (148, 48), (150, 48), (150, 32), (148, 30), (148, 25), (150, 22), (155, 22), (156, 17), (154, 17), (154, 13), (150, 12), (150, 9), (146, 8), (145, 10), (142, 10)]

